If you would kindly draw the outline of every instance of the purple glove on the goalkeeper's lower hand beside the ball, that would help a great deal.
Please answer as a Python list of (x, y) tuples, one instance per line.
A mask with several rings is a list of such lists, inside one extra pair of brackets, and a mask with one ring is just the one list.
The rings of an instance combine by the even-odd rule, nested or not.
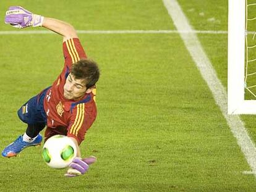
[(85, 159), (81, 159), (80, 157), (75, 157), (72, 163), (69, 165), (69, 169), (65, 174), (66, 177), (75, 177), (79, 175), (83, 175), (89, 169), (89, 165), (93, 164), (96, 161), (96, 157), (90, 156)]

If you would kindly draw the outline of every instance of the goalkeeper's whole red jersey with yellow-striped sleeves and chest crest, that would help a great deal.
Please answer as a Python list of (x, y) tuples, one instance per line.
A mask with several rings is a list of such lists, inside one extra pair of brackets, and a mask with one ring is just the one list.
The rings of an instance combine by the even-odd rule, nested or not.
[(64, 69), (46, 92), (43, 102), (47, 128), (45, 140), (57, 134), (74, 137), (80, 144), (88, 128), (96, 119), (95, 95), (85, 94), (79, 101), (64, 98), (64, 85), (70, 73), (72, 64), (87, 58), (78, 38), (72, 38), (63, 43)]

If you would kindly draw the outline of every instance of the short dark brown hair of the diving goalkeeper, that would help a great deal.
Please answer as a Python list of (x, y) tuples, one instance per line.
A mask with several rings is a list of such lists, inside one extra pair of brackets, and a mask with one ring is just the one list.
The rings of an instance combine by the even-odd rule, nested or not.
[(77, 79), (84, 79), (86, 88), (91, 88), (100, 78), (98, 64), (91, 59), (81, 59), (72, 65), (70, 72)]

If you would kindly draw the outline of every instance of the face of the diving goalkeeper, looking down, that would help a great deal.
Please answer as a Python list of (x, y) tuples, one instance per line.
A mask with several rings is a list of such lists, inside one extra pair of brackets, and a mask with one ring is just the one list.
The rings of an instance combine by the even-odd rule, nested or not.
[(79, 100), (90, 93), (91, 90), (86, 88), (85, 80), (76, 79), (74, 75), (69, 73), (64, 85), (64, 98), (69, 100)]

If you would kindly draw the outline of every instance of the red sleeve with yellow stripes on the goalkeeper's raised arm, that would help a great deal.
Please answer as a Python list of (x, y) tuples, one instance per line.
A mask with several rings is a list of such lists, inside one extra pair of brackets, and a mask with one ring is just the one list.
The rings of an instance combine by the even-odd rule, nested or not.
[(72, 64), (80, 59), (86, 59), (87, 55), (83, 50), (79, 38), (71, 38), (62, 44), (65, 64), (71, 69)]

